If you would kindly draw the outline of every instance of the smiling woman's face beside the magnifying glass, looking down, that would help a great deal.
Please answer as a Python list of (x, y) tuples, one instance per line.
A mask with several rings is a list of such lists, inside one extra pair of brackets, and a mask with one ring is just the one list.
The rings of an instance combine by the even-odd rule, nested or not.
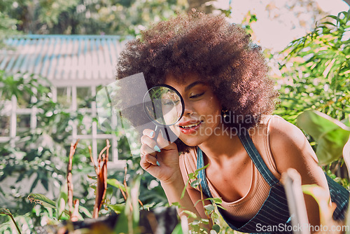
[(178, 90), (185, 103), (183, 117), (170, 129), (188, 146), (198, 146), (220, 134), (221, 104), (210, 86), (195, 74), (186, 77), (183, 84), (167, 76), (165, 83)]

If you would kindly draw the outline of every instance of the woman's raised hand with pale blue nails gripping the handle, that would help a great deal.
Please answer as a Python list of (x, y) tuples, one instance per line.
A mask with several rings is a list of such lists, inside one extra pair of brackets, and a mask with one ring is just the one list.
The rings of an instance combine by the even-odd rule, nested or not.
[(143, 134), (140, 149), (141, 167), (163, 183), (182, 179), (176, 144), (168, 142), (162, 134), (158, 134), (155, 139), (155, 131), (150, 129), (145, 129)]

